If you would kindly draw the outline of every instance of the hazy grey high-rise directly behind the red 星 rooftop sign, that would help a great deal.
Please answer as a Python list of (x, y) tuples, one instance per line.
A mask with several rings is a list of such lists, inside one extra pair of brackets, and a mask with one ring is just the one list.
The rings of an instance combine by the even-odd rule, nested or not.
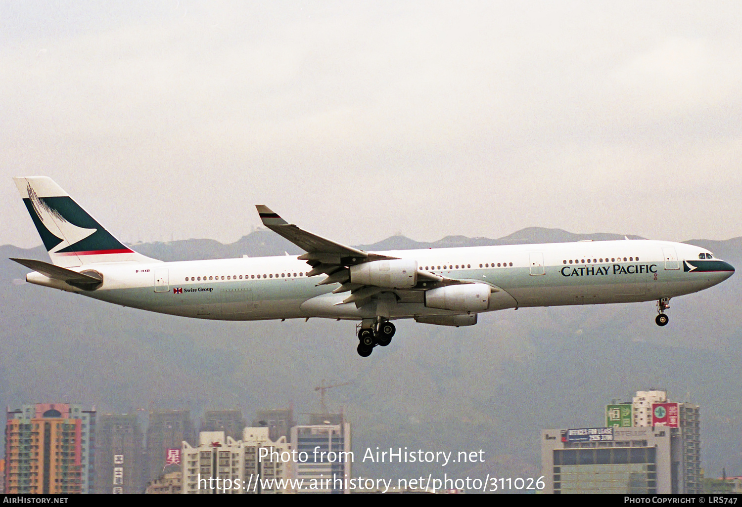
[(196, 440), (191, 411), (151, 411), (147, 425), (147, 480), (157, 479), (165, 471), (168, 449), (180, 449), (183, 442)]

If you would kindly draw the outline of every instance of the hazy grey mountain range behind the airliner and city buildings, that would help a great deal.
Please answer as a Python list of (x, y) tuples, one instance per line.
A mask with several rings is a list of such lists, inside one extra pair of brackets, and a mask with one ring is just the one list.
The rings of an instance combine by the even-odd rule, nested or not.
[[(635, 238), (636, 236), (629, 236)], [(528, 228), (500, 239), (393, 236), (366, 250), (623, 239)], [(690, 240), (739, 268), (742, 238)], [(165, 261), (301, 253), (257, 230), (231, 245), (209, 239), (134, 245)], [(538, 477), (542, 428), (604, 424), (605, 404), (637, 389), (666, 388), (701, 407), (706, 474), (742, 475), (742, 300), (740, 275), (673, 299), (670, 324), (654, 324), (654, 302), (522, 308), (480, 317), (471, 328), (400, 321), (392, 344), (363, 359), (352, 322), (211, 322), (183, 319), (41, 288), (7, 260), (47, 260), (43, 248), (0, 247), (0, 399), (79, 402), (100, 413), (257, 408), (292, 403), (319, 411), (314, 387), (353, 425), (354, 474), (414, 477), (432, 472), (484, 478)], [(142, 412), (144, 413), (144, 412)], [(143, 418), (145, 420), (145, 418)], [(484, 449), (485, 463), (370, 465), (367, 447)]]

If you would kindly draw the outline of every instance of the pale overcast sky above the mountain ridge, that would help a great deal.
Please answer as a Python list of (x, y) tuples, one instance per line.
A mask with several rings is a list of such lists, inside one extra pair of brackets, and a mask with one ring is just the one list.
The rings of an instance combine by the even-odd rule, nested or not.
[(742, 4), (0, 3), (11, 176), (119, 239), (742, 236)]

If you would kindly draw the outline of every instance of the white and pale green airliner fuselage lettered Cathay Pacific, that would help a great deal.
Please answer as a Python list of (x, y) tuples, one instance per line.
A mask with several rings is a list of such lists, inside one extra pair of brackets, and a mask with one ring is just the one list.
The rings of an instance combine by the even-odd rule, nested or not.
[[(700, 261), (703, 248), (650, 240), (504, 245), (379, 252), (414, 259), (418, 269), (493, 288), (485, 311), (551, 305), (640, 302), (690, 294), (729, 278), (719, 259)], [(709, 259), (711, 258), (709, 253)], [(693, 262), (693, 264), (691, 264)], [(370, 304), (342, 303), (338, 284), (318, 285), (297, 256), (188, 262), (112, 262), (94, 269), (103, 283), (82, 291), (38, 273), (29, 282), (163, 314), (202, 319), (326, 317), (389, 319), (471, 312), (428, 308), (424, 288), (389, 289)]]

